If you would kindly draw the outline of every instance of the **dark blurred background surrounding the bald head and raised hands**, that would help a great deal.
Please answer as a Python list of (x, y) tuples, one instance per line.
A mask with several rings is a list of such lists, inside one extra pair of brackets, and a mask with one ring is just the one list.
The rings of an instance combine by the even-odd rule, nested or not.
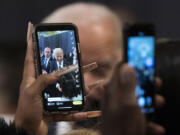
[[(56, 8), (77, 1), (79, 0), (1, 0), (0, 112), (1, 108), (14, 112), (17, 104), (28, 21), (37, 24)], [(164, 39), (159, 40), (157, 44), (156, 66), (157, 75), (162, 78), (164, 84), (160, 93), (166, 98), (166, 106), (157, 112), (155, 120), (165, 126), (167, 134), (178, 132), (173, 121), (177, 121), (179, 112), (176, 108), (179, 107), (180, 96), (180, 1), (91, 0), (90, 2), (107, 5), (116, 11), (124, 22), (128, 20), (155, 24), (157, 38)]]

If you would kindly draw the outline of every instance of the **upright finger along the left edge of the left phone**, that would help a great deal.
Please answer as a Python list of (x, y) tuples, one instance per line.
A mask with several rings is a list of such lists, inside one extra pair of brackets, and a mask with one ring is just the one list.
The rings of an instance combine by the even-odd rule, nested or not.
[(24, 62), (24, 72), (23, 72), (24, 81), (28, 80), (29, 78), (35, 78), (32, 29), (33, 29), (33, 25), (29, 22), (28, 32), (27, 32), (27, 51), (26, 51), (26, 57), (25, 57), (25, 62)]

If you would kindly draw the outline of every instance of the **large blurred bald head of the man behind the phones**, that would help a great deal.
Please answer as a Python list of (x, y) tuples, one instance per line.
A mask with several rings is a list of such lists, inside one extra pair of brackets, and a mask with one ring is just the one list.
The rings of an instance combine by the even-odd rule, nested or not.
[(82, 63), (98, 63), (97, 69), (84, 75), (85, 83), (109, 80), (115, 64), (122, 56), (122, 26), (113, 11), (101, 4), (75, 3), (57, 9), (44, 22), (76, 24)]

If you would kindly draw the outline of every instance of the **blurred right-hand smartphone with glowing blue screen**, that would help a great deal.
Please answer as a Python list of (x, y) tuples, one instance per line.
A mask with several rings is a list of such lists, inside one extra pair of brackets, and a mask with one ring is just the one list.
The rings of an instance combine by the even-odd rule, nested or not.
[(153, 24), (131, 24), (124, 30), (124, 59), (135, 69), (135, 94), (141, 111), (155, 112), (155, 28)]

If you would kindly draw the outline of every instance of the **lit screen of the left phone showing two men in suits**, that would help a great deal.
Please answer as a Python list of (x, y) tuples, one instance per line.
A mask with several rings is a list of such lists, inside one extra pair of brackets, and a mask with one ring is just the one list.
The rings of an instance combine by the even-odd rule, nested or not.
[[(73, 30), (37, 32), (42, 74), (52, 73), (63, 67), (78, 66), (76, 39)], [(79, 66), (78, 66), (79, 67)], [(79, 68), (62, 75), (43, 91), (47, 108), (70, 109), (83, 103)]]

